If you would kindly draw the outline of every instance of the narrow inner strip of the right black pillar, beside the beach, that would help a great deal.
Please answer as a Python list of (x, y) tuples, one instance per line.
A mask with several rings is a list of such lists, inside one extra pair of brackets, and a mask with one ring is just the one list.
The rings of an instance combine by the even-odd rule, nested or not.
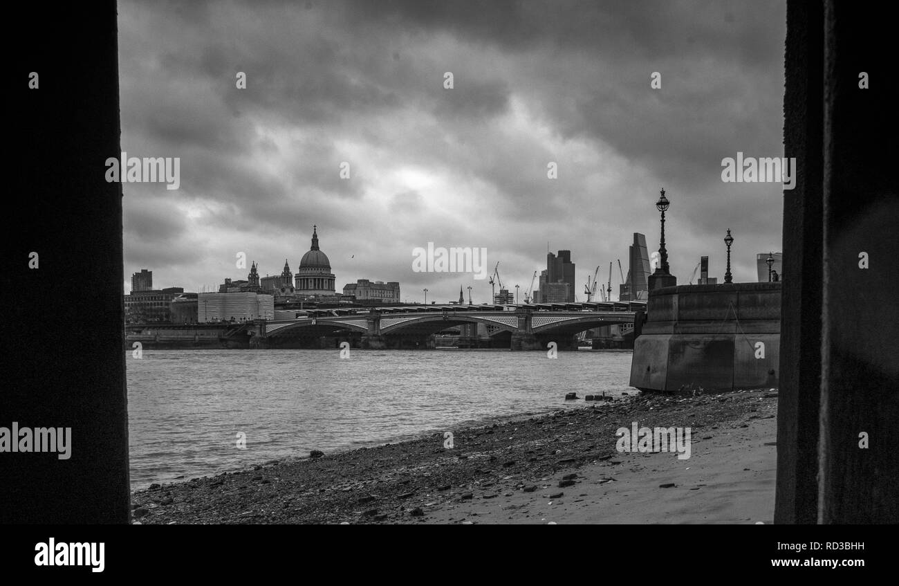
[[(783, 280), (774, 520), (818, 517), (818, 404), (821, 400), (823, 189), (823, 3), (787, 4), (784, 151), (797, 159), (784, 191)], [(797, 425), (798, 423), (798, 425)]]

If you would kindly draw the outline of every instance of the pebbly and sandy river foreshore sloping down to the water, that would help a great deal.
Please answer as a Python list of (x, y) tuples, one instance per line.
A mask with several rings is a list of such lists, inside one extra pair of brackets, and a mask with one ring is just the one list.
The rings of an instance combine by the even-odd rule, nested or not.
[[(133, 514), (145, 524), (772, 521), (776, 394), (587, 405), (448, 430), (451, 449), (433, 434), (155, 485), (132, 493)], [(615, 432), (632, 422), (690, 427), (690, 458), (619, 452)]]

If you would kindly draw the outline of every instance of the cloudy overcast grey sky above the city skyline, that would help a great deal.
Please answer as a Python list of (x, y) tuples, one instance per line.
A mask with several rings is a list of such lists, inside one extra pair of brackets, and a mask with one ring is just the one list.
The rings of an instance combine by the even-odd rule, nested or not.
[[(724, 183), (721, 162), (784, 155), (782, 2), (119, 10), (122, 150), (181, 158), (177, 191), (123, 185), (127, 279), (149, 269), (157, 289), (190, 291), (246, 279), (238, 252), (263, 276), (285, 258), (296, 271), (316, 224), (338, 292), (398, 280), (409, 301), (469, 285), (487, 301), (486, 280), (412, 270), (413, 249), (433, 242), (485, 247), (489, 271), (500, 262), (523, 294), (548, 242), (572, 251), (583, 300), (597, 265), (603, 281), (609, 262), (627, 272), (634, 232), (658, 248), (663, 187), (679, 282), (703, 254), (723, 280), (728, 227), (735, 281), (756, 280), (756, 253), (780, 250), (781, 185)], [(616, 263), (616, 296), (619, 282)]]

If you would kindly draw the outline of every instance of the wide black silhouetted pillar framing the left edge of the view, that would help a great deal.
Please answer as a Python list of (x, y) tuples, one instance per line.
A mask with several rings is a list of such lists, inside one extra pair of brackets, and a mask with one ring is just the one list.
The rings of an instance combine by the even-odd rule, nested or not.
[[(3, 522), (127, 523), (116, 4), (31, 3), (14, 53), (0, 426), (71, 428), (71, 457), (3, 453)], [(31, 72), (39, 86), (29, 89)], [(38, 268), (29, 268), (31, 253)]]

